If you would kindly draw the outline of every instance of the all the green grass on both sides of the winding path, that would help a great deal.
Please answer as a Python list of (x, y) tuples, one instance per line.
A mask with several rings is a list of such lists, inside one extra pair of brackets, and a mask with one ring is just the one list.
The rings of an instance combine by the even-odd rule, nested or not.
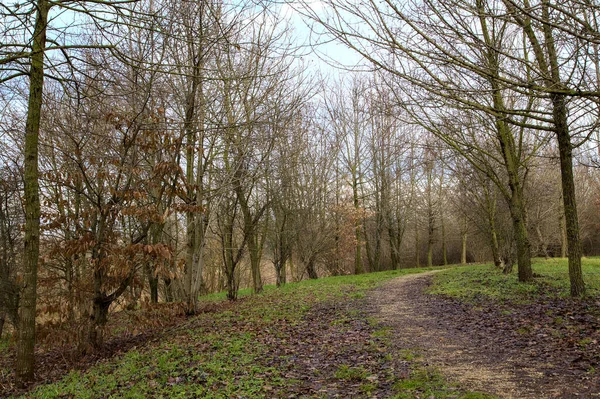
[[(516, 270), (506, 276), (493, 265), (449, 268), (435, 275), (430, 291), (474, 302), (488, 298), (526, 303), (542, 294), (559, 297), (569, 295), (566, 259), (535, 259), (533, 269), (538, 276), (535, 281), (520, 283)], [(270, 348), (259, 337), (278, 334), (277, 326), (282, 323), (302, 323), (303, 316), (320, 302), (361, 300), (367, 290), (384, 281), (426, 270), (430, 269), (330, 277), (287, 284), (279, 289), (266, 286), (260, 295), (251, 295), (249, 290), (243, 290), (240, 297), (244, 300), (235, 307), (200, 315), (161, 342), (128, 351), (86, 371), (72, 371), (58, 382), (37, 387), (26, 397), (275, 397), (277, 395), (274, 392), (286, 392), (299, 381), (286, 378), (284, 370), (261, 361)], [(584, 259), (583, 271), (587, 294), (600, 296), (600, 259)], [(207, 301), (225, 299), (225, 293), (203, 297)], [(354, 316), (350, 309), (343, 317)], [(332, 320), (331, 324), (343, 326), (347, 321), (343, 317)], [(553, 320), (556, 324), (563, 322), (560, 317)], [(486, 394), (465, 392), (449, 383), (411, 348), (392, 350), (393, 332), (378, 326), (376, 320), (368, 322), (374, 328), (372, 337), (387, 342), (385, 346), (389, 352), (386, 358), (391, 360), (395, 356), (410, 365), (408, 376), (398, 377), (393, 382), (393, 398), (493, 398)], [(522, 333), (527, 334), (527, 331)], [(577, 342), (581, 347), (590, 344), (591, 341), (585, 338)], [(590, 372), (594, 373), (595, 370)], [(364, 397), (372, 396), (377, 390), (369, 371), (359, 365), (340, 364), (334, 371), (334, 377), (350, 384), (360, 384), (360, 392)]]

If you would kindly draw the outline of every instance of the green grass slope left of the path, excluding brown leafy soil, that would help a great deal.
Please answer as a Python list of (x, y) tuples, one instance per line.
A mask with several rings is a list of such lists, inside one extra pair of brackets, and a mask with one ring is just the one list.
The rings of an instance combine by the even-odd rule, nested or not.
[[(257, 338), (265, 334), (279, 336), (282, 325), (303, 323), (303, 316), (314, 306), (327, 301), (360, 300), (367, 289), (382, 281), (419, 271), (410, 269), (324, 278), (289, 284), (282, 289), (267, 287), (264, 294), (249, 296), (232, 310), (200, 315), (160, 342), (131, 350), (85, 372), (73, 371), (59, 382), (39, 386), (27, 397), (283, 396), (281, 393), (299, 382), (286, 379), (282, 370), (269, 367), (262, 361), (268, 357), (269, 347), (261, 344), (264, 340)], [(331, 323), (336, 323), (336, 320)], [(381, 339), (386, 331), (375, 327), (372, 334)], [(387, 349), (392, 356), (390, 342)], [(395, 381), (395, 398), (488, 398), (447, 384), (434, 370), (419, 366), (410, 350), (401, 351), (398, 356), (412, 364), (412, 372), (408, 377), (398, 377)], [(340, 365), (335, 378), (343, 380), (348, 378), (348, 373), (354, 372), (356, 370), (347, 365)], [(363, 377), (365, 382), (370, 381), (368, 375)], [(364, 397), (370, 396), (368, 388), (366, 383)]]

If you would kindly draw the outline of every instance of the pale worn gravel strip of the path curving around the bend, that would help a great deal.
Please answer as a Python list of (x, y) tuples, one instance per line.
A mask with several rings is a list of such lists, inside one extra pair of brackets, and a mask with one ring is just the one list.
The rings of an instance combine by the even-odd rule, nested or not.
[(398, 277), (371, 291), (373, 316), (394, 329), (398, 348), (417, 350), (426, 364), (474, 391), (506, 399), (556, 397), (534, 388), (544, 375), (526, 368), (523, 359), (493, 362), (468, 342), (466, 334), (448, 331), (428, 312), (430, 298), (423, 290), (436, 272)]

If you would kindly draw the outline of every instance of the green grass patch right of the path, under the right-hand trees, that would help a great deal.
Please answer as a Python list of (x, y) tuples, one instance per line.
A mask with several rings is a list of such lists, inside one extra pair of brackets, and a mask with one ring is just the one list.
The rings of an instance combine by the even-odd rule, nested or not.
[[(478, 299), (528, 303), (540, 295), (569, 296), (569, 273), (566, 259), (534, 259), (536, 275), (531, 283), (518, 281), (517, 268), (510, 275), (502, 274), (493, 265), (473, 265), (452, 268), (438, 273), (429, 292), (457, 297), (468, 302)], [(600, 258), (582, 260), (586, 295), (600, 296)]]

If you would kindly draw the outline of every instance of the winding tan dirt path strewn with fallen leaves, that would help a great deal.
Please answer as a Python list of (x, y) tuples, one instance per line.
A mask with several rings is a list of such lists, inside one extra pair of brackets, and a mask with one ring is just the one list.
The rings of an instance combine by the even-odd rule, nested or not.
[[(396, 278), (371, 292), (374, 316), (395, 330), (399, 348), (415, 349), (423, 361), (466, 388), (501, 398), (596, 398), (578, 395), (557, 378), (548, 377), (542, 362), (518, 351), (485, 345), (453, 320), (464, 309), (441, 309), (440, 298), (423, 293), (435, 272)], [(437, 313), (436, 313), (437, 312)], [(471, 326), (472, 327), (472, 326)]]

